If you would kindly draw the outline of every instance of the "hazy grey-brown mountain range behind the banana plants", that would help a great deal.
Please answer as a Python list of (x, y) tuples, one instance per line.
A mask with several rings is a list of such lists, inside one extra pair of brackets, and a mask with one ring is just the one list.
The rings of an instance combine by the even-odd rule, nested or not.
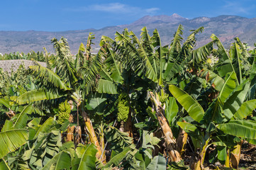
[(172, 42), (172, 37), (177, 30), (179, 24), (184, 26), (184, 39), (189, 35), (189, 30), (193, 30), (204, 26), (204, 32), (197, 35), (198, 46), (204, 45), (211, 40), (211, 34), (215, 34), (220, 38), (225, 47), (229, 47), (233, 42), (233, 38), (239, 37), (242, 42), (253, 45), (256, 42), (256, 18), (245, 18), (240, 16), (217, 16), (217, 17), (198, 17), (193, 19), (183, 18), (177, 13), (172, 16), (144, 16), (133, 23), (122, 26), (108, 26), (87, 30), (69, 30), (62, 32), (45, 32), (45, 31), (0, 31), (0, 52), (35, 52), (42, 51), (45, 47), (48, 52), (54, 52), (50, 40), (52, 38), (67, 38), (72, 54), (76, 54), (81, 42), (87, 42), (89, 33), (94, 33), (95, 45), (94, 52), (99, 50), (99, 41), (101, 35), (114, 38), (116, 31), (122, 32), (124, 28), (132, 30), (136, 35), (140, 35), (140, 30), (147, 26), (150, 35), (157, 28), (160, 33), (162, 45)]

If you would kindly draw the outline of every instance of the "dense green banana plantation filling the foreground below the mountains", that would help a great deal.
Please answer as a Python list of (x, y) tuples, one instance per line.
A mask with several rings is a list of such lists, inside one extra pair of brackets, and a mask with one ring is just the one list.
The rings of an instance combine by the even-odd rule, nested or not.
[(0, 69), (0, 169), (238, 169), (256, 144), (256, 48), (196, 47), (202, 31), (162, 45), (125, 29), (96, 54), (90, 33), (77, 55), (53, 38), (47, 67)]

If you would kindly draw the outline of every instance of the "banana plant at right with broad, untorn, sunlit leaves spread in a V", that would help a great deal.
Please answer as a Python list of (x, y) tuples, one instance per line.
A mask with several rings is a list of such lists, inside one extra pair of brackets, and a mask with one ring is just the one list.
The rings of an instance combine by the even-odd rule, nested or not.
[[(249, 123), (247, 120), (234, 120), (238, 117), (245, 118), (256, 108), (255, 100), (246, 101), (246, 95), (249, 90), (250, 83), (244, 81), (242, 84), (237, 86), (236, 81), (238, 81), (238, 79), (235, 72), (228, 75), (225, 83), (222, 85), (218, 97), (210, 103), (206, 111), (204, 111), (198, 101), (189, 96), (185, 91), (182, 91), (182, 89), (179, 89), (174, 85), (169, 86), (169, 91), (183, 106), (184, 110), (187, 111), (189, 117), (192, 118), (190, 122), (179, 122), (178, 125), (191, 135), (192, 138), (196, 138), (201, 142), (199, 159), (196, 162), (194, 169), (203, 169), (204, 157), (207, 148), (211, 145), (209, 142), (214, 139), (213, 134), (217, 133), (220, 135), (220, 132), (224, 132), (226, 135), (233, 135), (228, 138), (229, 140), (235, 140), (235, 136), (243, 137), (244, 139), (246, 137), (252, 137), (255, 139), (255, 136), (253, 135), (254, 130), (252, 130), (249, 125), (250, 123), (253, 124), (255, 122), (248, 120), (250, 122)], [(218, 86), (221, 85), (218, 84)], [(186, 120), (189, 119), (186, 118)], [(193, 120), (197, 123), (193, 123)], [(203, 128), (203, 131), (200, 130), (203, 127), (202, 125), (205, 127)], [(230, 125), (233, 125), (233, 128), (239, 128), (239, 130), (234, 131), (228, 129), (230, 128)], [(248, 131), (248, 133), (243, 134), (245, 131)], [(226, 141), (222, 140), (220, 142), (225, 143)]]

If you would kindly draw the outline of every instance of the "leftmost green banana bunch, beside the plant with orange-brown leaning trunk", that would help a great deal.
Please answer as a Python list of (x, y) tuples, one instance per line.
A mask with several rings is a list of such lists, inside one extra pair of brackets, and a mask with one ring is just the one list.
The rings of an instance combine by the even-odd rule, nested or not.
[(71, 108), (67, 101), (60, 103), (57, 123), (62, 124), (65, 120), (69, 119)]

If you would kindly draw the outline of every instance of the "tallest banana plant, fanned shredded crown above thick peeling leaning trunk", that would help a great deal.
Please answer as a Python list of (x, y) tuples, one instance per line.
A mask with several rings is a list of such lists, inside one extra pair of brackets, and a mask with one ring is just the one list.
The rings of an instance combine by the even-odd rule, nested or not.
[[(127, 29), (124, 30), (122, 34), (118, 32), (116, 33), (116, 42), (109, 38), (107, 40), (108, 42), (111, 42), (112, 44), (115, 44), (119, 47), (118, 49), (121, 53), (121, 61), (123, 62), (124, 67), (132, 69), (133, 72), (142, 79), (150, 79), (150, 84), (152, 86), (151, 89), (157, 90), (159, 94), (161, 91), (161, 95), (165, 96), (165, 91), (167, 91), (167, 89), (165, 89), (165, 86), (167, 85), (167, 82), (174, 79), (177, 75), (180, 74), (180, 72), (184, 72), (184, 70), (186, 69), (182, 68), (180, 64), (186, 64), (184, 63), (184, 61), (191, 62), (191, 60), (199, 63), (203, 60), (206, 60), (207, 55), (209, 55), (209, 52), (211, 51), (214, 42), (210, 42), (205, 47), (200, 47), (198, 50), (194, 50), (194, 46), (196, 44), (195, 35), (197, 33), (200, 33), (203, 29), (204, 28), (199, 28), (197, 30), (194, 30), (182, 46), (182, 26), (179, 26), (179, 28), (177, 29), (177, 33), (174, 35), (174, 40), (169, 50), (167, 47), (162, 47), (158, 31), (154, 30), (152, 37), (150, 37), (147, 28), (142, 29), (140, 40), (132, 31), (128, 32)], [(201, 54), (204, 55), (202, 56)], [(113, 81), (109, 79), (109, 77), (110, 76), (108, 76), (109, 85), (99, 87), (110, 88), (110, 84), (114, 85)], [(101, 92), (102, 91), (103, 90), (101, 89)], [(160, 113), (162, 112), (162, 109), (160, 109), (159, 111), (157, 109), (162, 108), (162, 106), (160, 101), (157, 99), (157, 95), (157, 93), (150, 93), (152, 103), (155, 103), (154, 108), (156, 109), (157, 113)], [(165, 103), (165, 100), (163, 100), (162, 103)], [(160, 123), (162, 130), (166, 129), (166, 132), (164, 132), (164, 134), (167, 139), (169, 136), (167, 134), (172, 134), (171, 129), (169, 128), (169, 124), (166, 120), (163, 120), (163, 114), (157, 115), (159, 121), (163, 123)], [(171, 151), (174, 149), (175, 144), (173, 136), (171, 135), (171, 137), (169, 138), (171, 138), (171, 140), (169, 140), (169, 144), (167, 146), (171, 146), (172, 143), (173, 147), (169, 148), (169, 152), (171, 153)], [(173, 156), (173, 161), (179, 162), (181, 160), (181, 157), (178, 153), (172, 153), (171, 155)], [(177, 158), (175, 158), (176, 155), (178, 155)]]

